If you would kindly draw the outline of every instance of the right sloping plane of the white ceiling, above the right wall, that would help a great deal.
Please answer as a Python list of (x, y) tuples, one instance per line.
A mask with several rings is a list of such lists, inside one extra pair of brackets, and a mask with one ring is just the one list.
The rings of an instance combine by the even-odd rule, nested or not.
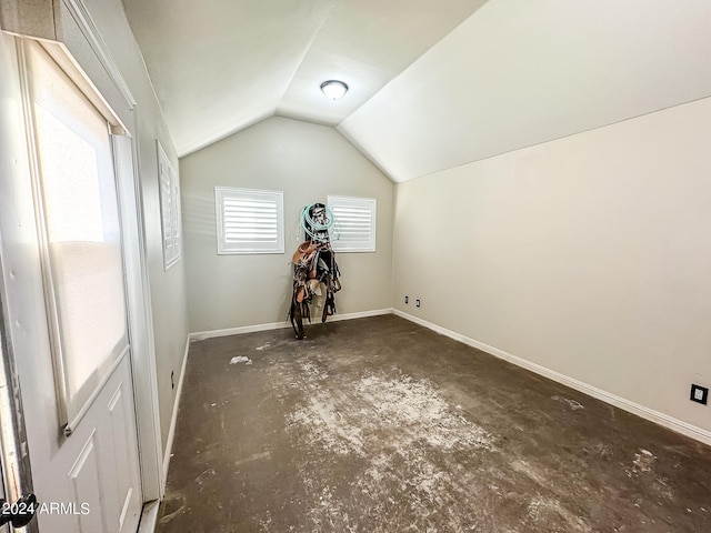
[(491, 0), (339, 130), (403, 181), (710, 95), (709, 0)]

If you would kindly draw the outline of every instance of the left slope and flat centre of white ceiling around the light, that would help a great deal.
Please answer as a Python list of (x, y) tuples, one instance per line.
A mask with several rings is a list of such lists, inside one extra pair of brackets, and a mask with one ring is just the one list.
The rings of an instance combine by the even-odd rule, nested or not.
[(484, 1), (123, 3), (182, 157), (272, 114), (340, 123)]

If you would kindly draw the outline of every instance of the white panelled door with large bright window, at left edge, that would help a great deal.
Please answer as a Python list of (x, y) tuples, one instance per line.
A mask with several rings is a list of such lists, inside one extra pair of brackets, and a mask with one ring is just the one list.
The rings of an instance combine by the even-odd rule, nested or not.
[(0, 73), (16, 48), (24, 105), (0, 110), (13, 139), (0, 143), (0, 163), (13, 163), (0, 173), (0, 238), (39, 530), (133, 533), (142, 495), (116, 117), (37, 42), (3, 37)]

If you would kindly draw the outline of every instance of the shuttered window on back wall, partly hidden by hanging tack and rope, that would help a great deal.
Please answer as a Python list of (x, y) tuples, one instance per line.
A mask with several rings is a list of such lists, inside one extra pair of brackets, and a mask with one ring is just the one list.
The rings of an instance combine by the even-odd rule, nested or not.
[(336, 223), (331, 228), (331, 247), (337, 252), (375, 251), (375, 199), (328, 197)]

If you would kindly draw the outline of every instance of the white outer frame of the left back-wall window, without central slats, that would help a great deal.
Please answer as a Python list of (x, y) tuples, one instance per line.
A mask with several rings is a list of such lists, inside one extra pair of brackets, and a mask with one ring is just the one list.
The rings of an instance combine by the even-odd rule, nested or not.
[[(224, 215), (224, 200), (227, 198), (270, 201), (276, 207), (277, 237), (269, 245), (264, 241), (242, 241), (229, 244), (226, 239), (227, 227)], [(284, 253), (284, 193), (283, 191), (264, 189), (246, 189), (239, 187), (214, 188), (214, 211), (217, 224), (218, 255), (251, 255), (264, 253)]]

